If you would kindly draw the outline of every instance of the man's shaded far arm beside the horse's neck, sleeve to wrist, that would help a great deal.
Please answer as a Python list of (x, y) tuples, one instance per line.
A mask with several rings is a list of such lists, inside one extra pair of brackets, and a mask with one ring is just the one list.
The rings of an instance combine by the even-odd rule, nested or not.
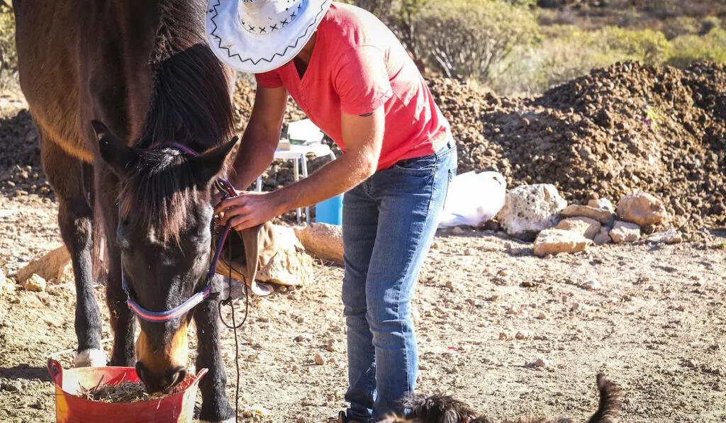
[(257, 87), (250, 121), (242, 134), (233, 173), (229, 177), (237, 189), (247, 189), (272, 163), (274, 150), (280, 142), (286, 106), (285, 87)]

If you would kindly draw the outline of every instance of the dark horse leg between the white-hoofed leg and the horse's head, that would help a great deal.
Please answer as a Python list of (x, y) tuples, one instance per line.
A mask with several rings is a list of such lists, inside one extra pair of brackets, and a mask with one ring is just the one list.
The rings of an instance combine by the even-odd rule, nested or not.
[(118, 177), (107, 165), (97, 160), (96, 166), (96, 201), (104, 216), (106, 240), (106, 257), (108, 259), (108, 283), (106, 284), (106, 304), (108, 305), (111, 330), (113, 331), (113, 350), (111, 366), (133, 367), (136, 364), (136, 346), (134, 345), (134, 327), (136, 319), (126, 305), (126, 292), (121, 285), (121, 250), (116, 244), (118, 229), (118, 210), (116, 208), (116, 192)]

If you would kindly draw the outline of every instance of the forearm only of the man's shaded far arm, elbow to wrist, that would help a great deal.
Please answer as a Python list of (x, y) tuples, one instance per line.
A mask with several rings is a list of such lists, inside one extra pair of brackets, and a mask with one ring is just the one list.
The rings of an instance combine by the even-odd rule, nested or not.
[(235, 188), (248, 189), (250, 184), (269, 167), (279, 140), (279, 131), (277, 134), (271, 134), (251, 127), (245, 131), (237, 157), (234, 159), (233, 171), (229, 176)]

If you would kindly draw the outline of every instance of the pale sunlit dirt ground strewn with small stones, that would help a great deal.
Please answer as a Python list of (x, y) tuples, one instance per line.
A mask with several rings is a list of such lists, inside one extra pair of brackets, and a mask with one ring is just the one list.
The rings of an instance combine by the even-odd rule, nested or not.
[[(0, 269), (11, 276), (60, 245), (34, 143), (28, 128), (0, 122)], [(441, 231), (415, 299), (418, 389), (454, 393), (495, 417), (584, 421), (605, 371), (625, 389), (623, 422), (726, 422), (726, 238), (691, 239), (542, 259), (491, 231)], [(239, 356), (244, 421), (325, 422), (346, 406), (343, 269), (319, 263), (316, 272), (310, 286), (251, 304)], [(63, 279), (46, 292), (0, 293), (0, 422), (54, 421), (46, 361), (71, 366), (76, 347), (75, 291)], [(102, 304), (104, 295), (97, 286)], [(234, 398), (232, 332), (223, 342)], [(527, 366), (539, 359), (547, 366)], [(266, 415), (250, 417), (252, 408)]]

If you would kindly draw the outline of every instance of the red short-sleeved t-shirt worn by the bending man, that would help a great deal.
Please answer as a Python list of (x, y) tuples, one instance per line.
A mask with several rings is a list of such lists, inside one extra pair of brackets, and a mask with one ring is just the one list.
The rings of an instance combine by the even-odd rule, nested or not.
[(330, 6), (302, 80), (293, 61), (256, 79), (265, 88), (285, 86), (343, 152), (341, 112), (364, 115), (383, 106), (386, 131), (378, 170), (430, 155), (446, 137), (446, 120), (411, 57), (383, 22), (358, 7)]

